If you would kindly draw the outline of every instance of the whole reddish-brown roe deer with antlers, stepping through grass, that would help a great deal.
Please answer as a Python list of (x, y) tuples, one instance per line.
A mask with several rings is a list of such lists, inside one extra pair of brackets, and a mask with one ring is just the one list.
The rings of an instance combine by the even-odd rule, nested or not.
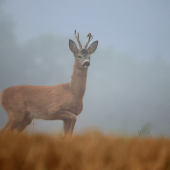
[(83, 109), (90, 55), (98, 46), (98, 41), (95, 41), (87, 48), (92, 38), (88, 36), (88, 42), (82, 49), (79, 33), (76, 35), (76, 30), (75, 37), (80, 49), (72, 40), (69, 40), (70, 50), (75, 57), (70, 83), (55, 86), (20, 85), (2, 91), (1, 104), (8, 114), (4, 131), (15, 129), (22, 132), (35, 118), (63, 120), (64, 136), (72, 134), (76, 117)]

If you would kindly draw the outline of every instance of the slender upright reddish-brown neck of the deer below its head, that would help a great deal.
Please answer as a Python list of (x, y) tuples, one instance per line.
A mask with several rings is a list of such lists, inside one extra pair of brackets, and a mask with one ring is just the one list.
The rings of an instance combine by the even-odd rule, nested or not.
[(86, 90), (87, 69), (79, 69), (76, 63), (73, 66), (73, 75), (71, 76), (70, 90), (71, 93), (81, 99)]

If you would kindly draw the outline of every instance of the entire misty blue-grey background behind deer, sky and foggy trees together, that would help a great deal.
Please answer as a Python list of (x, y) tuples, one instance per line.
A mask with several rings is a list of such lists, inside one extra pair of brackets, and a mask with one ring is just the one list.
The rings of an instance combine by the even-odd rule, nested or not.
[[(0, 91), (70, 82), (75, 29), (83, 46), (89, 32), (99, 41), (75, 132), (169, 136), (169, 0), (0, 0)], [(0, 107), (0, 127), (7, 120)], [(34, 122), (36, 131), (62, 129), (59, 120)]]

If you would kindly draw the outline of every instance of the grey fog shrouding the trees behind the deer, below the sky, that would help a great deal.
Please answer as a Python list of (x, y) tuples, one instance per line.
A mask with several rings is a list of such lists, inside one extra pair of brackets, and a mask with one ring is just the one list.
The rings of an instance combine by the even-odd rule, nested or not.
[[(4, 4), (0, 1), (0, 91), (21, 84), (70, 82), (74, 56), (68, 41), (76, 42), (74, 30), (68, 29), (69, 35), (43, 32), (20, 41), (16, 23), (5, 12)], [(87, 34), (80, 32), (83, 45)], [(142, 57), (135, 49), (133, 53), (102, 45), (99, 34), (92, 42), (95, 40), (99, 46), (91, 56), (84, 108), (77, 118), (75, 132), (95, 127), (103, 132), (129, 135), (137, 135), (138, 130), (143, 130), (143, 135), (149, 132), (155, 136), (170, 135), (169, 52), (165, 49), (162, 53), (155, 48), (155, 54), (146, 58), (145, 53)], [(146, 55), (149, 54), (153, 53)], [(0, 107), (0, 127), (5, 126), (7, 119)], [(34, 122), (36, 131), (62, 130), (59, 120)], [(28, 130), (32, 129), (30, 125)]]

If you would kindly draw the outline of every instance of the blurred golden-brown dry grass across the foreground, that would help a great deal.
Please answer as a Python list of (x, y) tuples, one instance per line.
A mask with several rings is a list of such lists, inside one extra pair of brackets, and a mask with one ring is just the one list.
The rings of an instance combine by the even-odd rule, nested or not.
[(0, 133), (0, 170), (169, 170), (170, 140)]

